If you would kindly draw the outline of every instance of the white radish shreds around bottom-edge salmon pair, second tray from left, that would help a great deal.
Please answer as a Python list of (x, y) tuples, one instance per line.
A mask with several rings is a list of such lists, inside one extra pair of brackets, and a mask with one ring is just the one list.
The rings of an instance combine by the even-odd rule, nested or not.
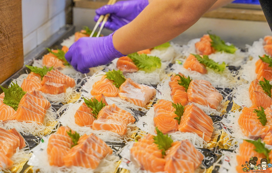
[(28, 161), (28, 165), (33, 166), (34, 172), (39, 169), (41, 173), (109, 173), (115, 170), (117, 167), (117, 161), (120, 160), (118, 156), (108, 155), (106, 158), (102, 159), (99, 166), (96, 169), (84, 168), (80, 166), (51, 166), (48, 161), (47, 146), (48, 137), (43, 137), (44, 143), (40, 143), (31, 151), (33, 155)]

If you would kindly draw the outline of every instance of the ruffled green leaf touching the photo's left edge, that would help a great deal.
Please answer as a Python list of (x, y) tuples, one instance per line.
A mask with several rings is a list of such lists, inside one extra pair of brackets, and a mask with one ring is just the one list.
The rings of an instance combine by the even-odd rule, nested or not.
[(15, 111), (17, 111), (18, 105), (26, 92), (23, 91), (23, 89), (17, 84), (17, 82), (16, 84), (12, 82), (8, 89), (5, 89), (3, 86), (1, 86), (1, 88), (5, 93), (3, 103), (11, 106)]

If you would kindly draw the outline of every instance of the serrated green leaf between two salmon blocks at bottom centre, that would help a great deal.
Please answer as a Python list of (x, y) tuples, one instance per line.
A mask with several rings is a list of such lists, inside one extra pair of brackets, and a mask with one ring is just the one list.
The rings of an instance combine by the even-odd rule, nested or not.
[(168, 134), (164, 135), (159, 129), (156, 127), (157, 136), (154, 136), (154, 143), (158, 145), (159, 149), (162, 149), (162, 156), (165, 156), (165, 151), (171, 147), (173, 140), (171, 136)]

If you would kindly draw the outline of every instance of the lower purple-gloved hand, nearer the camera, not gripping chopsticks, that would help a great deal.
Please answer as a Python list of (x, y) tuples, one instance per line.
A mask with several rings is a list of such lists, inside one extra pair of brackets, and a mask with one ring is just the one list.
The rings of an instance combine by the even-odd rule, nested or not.
[(66, 60), (81, 73), (89, 73), (89, 68), (110, 63), (125, 56), (113, 46), (112, 34), (104, 37), (82, 37), (65, 54)]

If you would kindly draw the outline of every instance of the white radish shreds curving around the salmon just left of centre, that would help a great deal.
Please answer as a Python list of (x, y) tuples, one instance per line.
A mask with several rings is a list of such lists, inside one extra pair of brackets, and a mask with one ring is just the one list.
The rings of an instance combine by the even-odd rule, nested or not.
[[(80, 107), (80, 105), (82, 105), (82, 103), (84, 102), (84, 100), (81, 100), (81, 102), (76, 102), (75, 104), (68, 104), (68, 105), (64, 105), (62, 106), (57, 113), (61, 113), (63, 111), (64, 114), (61, 115), (61, 118), (58, 119), (58, 121), (64, 125), (64, 126), (68, 126), (70, 127), (72, 130), (76, 131), (78, 134), (83, 135), (83, 134), (90, 134), (90, 133), (94, 133), (96, 136), (100, 137), (102, 140), (104, 141), (108, 141), (108, 142), (123, 142), (123, 140), (129, 140), (131, 139), (131, 136), (133, 133), (135, 132), (139, 132), (140, 130), (136, 129), (136, 124), (128, 124), (127, 126), (127, 133), (125, 135), (119, 135), (116, 134), (114, 132), (111, 131), (105, 131), (105, 130), (93, 130), (90, 127), (80, 127), (79, 125), (77, 125), (75, 123), (75, 118), (74, 115), (77, 111), (77, 109)], [(124, 108), (122, 108), (124, 109)], [(134, 113), (130, 110), (130, 109), (126, 109), (126, 111), (128, 111), (129, 113), (131, 113), (132, 115), (134, 115)], [(136, 130), (135, 130), (136, 129)]]

